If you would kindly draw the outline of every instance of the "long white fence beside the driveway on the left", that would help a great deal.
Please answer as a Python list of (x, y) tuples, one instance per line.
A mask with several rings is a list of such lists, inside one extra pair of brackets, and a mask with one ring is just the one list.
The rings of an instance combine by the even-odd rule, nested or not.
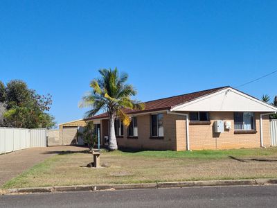
[(46, 146), (46, 129), (0, 128), (0, 154)]

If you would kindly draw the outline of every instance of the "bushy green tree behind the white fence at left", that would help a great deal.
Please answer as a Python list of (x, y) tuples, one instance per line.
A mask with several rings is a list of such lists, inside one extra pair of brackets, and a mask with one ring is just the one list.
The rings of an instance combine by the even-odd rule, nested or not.
[(22, 80), (0, 81), (0, 125), (13, 128), (53, 128), (54, 117), (48, 113), (50, 94), (39, 95)]

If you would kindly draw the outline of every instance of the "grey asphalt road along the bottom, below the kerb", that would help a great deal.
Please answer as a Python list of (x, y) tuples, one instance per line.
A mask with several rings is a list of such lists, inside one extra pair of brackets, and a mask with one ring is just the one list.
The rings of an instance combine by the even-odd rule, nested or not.
[(277, 207), (277, 186), (9, 195), (0, 196), (0, 207)]

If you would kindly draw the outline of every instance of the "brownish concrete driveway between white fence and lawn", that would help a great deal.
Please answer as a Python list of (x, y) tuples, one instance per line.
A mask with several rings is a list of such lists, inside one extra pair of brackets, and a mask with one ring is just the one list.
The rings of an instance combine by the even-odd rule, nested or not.
[(65, 151), (80, 152), (82, 150), (87, 150), (87, 148), (78, 146), (53, 146), (46, 148), (28, 148), (6, 155), (0, 155), (0, 187), (12, 177), (19, 175), (48, 157)]

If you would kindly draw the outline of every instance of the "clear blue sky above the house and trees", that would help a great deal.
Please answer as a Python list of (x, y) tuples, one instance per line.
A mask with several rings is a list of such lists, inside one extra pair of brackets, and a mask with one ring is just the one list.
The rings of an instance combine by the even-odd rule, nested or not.
[[(98, 69), (129, 74), (141, 101), (231, 85), (277, 69), (277, 1), (0, 1), (0, 80), (53, 95), (57, 123)], [(273, 98), (277, 73), (240, 90)]]

